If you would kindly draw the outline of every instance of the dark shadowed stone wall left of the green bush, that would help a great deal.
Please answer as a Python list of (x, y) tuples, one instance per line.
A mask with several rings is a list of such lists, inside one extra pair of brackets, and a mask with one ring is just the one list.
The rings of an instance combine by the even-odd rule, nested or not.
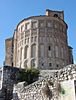
[(17, 83), (17, 73), (19, 72), (18, 68), (11, 66), (4, 66), (2, 68), (2, 89), (0, 92), (0, 100), (11, 100), (13, 85)]

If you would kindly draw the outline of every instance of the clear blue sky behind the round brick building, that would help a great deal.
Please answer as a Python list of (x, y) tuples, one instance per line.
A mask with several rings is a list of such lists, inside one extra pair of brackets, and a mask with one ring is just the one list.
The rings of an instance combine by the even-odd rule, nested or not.
[(16, 25), (29, 16), (44, 15), (46, 9), (64, 10), (76, 63), (76, 0), (0, 0), (0, 66), (5, 59), (5, 39), (13, 36)]

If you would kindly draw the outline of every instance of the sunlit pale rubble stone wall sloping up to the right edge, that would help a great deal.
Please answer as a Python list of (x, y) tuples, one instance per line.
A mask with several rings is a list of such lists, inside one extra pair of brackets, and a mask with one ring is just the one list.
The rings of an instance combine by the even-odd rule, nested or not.
[(60, 100), (60, 82), (72, 79), (76, 79), (76, 65), (68, 65), (53, 74), (46, 74), (28, 86), (24, 82), (15, 84), (12, 100)]

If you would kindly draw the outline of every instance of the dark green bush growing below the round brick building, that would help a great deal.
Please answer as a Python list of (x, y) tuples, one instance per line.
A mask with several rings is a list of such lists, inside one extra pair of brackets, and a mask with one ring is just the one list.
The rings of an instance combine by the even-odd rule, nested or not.
[(39, 77), (39, 70), (35, 68), (21, 70), (18, 74), (19, 81), (26, 81), (27, 84), (35, 82)]

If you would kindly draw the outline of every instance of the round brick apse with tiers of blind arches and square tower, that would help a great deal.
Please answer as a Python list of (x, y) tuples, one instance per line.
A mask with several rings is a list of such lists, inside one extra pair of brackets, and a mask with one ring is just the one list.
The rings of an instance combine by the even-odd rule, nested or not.
[(72, 64), (67, 29), (63, 11), (46, 10), (46, 15), (22, 20), (15, 29), (12, 45), (11, 40), (6, 41), (5, 65), (56, 70)]

